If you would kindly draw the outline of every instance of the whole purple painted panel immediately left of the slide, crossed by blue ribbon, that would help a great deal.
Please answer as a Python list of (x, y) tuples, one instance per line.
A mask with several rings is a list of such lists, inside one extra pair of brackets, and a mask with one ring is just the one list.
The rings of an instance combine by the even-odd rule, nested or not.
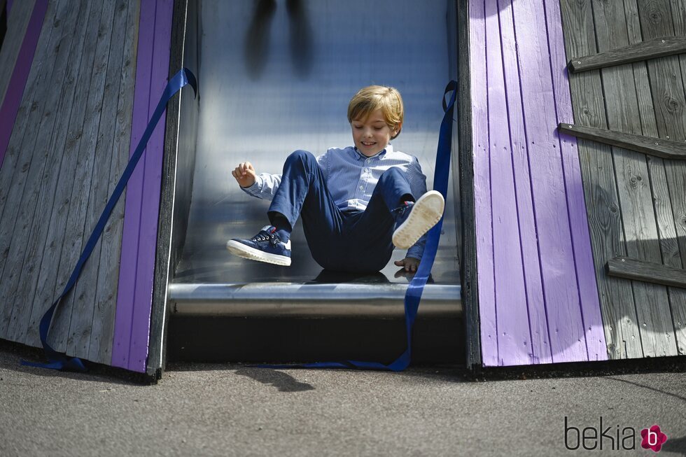
[[(172, 0), (141, 2), (130, 154), (169, 76)], [(165, 116), (127, 186), (112, 365), (146, 371)]]

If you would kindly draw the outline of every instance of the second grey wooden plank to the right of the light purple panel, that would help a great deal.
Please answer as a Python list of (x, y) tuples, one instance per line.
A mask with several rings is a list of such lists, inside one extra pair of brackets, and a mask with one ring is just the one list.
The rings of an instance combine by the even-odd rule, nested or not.
[[(622, 3), (594, 3), (594, 19), (599, 50), (629, 43)], [(601, 77), (608, 127), (640, 136), (642, 129), (639, 113), (643, 107), (638, 105), (632, 66), (603, 69)], [(612, 155), (615, 159), (626, 252), (634, 258), (660, 262), (657, 221), (652, 210), (652, 192), (645, 155), (617, 147), (612, 148)], [(636, 316), (643, 355), (676, 355), (673, 335), (668, 336), (671, 332), (671, 315), (666, 288), (635, 283), (633, 296), (637, 304)]]

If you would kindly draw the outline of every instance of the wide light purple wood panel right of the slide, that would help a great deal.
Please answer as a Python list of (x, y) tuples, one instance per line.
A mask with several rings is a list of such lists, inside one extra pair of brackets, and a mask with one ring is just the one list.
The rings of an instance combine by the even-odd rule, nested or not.
[(554, 3), (470, 1), (485, 366), (606, 358)]

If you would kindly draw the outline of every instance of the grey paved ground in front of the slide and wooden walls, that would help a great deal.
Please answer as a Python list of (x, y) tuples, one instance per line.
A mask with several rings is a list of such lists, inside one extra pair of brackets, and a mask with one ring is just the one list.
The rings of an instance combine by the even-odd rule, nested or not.
[[(597, 429), (601, 417), (610, 427), (603, 452), (586, 454), (653, 455), (640, 430), (658, 424), (668, 437), (660, 455), (686, 456), (682, 373), (477, 382), (449, 368), (183, 364), (140, 386), (22, 367), (20, 355), (0, 349), (3, 457), (582, 454), (565, 448), (565, 416), (570, 447), (571, 427)], [(636, 450), (608, 450), (624, 437), (617, 426), (636, 430)]]

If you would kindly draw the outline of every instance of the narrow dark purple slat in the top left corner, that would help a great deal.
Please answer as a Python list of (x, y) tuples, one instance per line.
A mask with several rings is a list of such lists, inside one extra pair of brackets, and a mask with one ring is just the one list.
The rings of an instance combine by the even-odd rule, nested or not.
[[(8, 3), (8, 10), (9, 6), (10, 4)], [(0, 122), (0, 168), (5, 159), (7, 146), (10, 143), (14, 122), (17, 118), (26, 81), (29, 77), (29, 70), (31, 70), (31, 64), (34, 62), (34, 52), (36, 52), (38, 37), (41, 36), (46, 10), (48, 10), (48, 0), (36, 0), (26, 33), (24, 34), (22, 48), (19, 51), (17, 62), (15, 62), (10, 83), (7, 86), (5, 99), (0, 107), (0, 119), (2, 120)]]

